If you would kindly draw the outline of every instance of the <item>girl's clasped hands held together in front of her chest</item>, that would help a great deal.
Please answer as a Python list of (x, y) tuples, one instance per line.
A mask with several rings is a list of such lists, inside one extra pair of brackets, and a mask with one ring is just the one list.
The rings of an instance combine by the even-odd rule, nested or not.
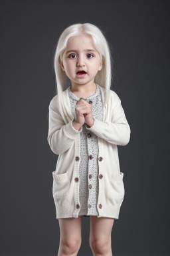
[(91, 127), (94, 124), (94, 117), (92, 115), (92, 105), (85, 101), (84, 99), (80, 99), (77, 102), (75, 107), (75, 120), (80, 125), (86, 125)]

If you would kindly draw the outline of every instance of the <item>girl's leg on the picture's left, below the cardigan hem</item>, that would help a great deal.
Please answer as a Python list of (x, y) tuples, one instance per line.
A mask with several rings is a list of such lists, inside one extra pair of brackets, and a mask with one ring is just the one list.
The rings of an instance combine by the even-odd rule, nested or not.
[(82, 242), (82, 216), (58, 219), (60, 247), (58, 256), (76, 256)]

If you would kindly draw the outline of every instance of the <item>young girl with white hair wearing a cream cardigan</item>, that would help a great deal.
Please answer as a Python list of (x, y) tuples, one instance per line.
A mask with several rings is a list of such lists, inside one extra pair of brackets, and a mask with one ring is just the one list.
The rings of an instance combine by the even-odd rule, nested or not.
[(102, 31), (90, 23), (67, 27), (58, 40), (54, 70), (58, 94), (49, 105), (47, 139), (59, 155), (52, 172), (58, 256), (77, 255), (82, 216), (90, 216), (93, 254), (111, 256), (112, 226), (125, 193), (117, 146), (128, 144), (131, 130), (110, 89), (112, 58)]

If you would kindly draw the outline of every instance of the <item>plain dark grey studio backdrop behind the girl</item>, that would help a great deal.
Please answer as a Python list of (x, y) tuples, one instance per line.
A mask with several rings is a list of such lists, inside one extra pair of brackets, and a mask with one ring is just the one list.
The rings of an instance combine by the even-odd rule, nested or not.
[[(94, 23), (112, 43), (112, 90), (131, 140), (118, 146), (126, 194), (112, 229), (116, 256), (169, 252), (168, 1), (1, 1), (1, 255), (57, 255), (52, 198), (57, 155), (47, 142), (56, 41)], [(78, 255), (92, 255), (82, 221)]]

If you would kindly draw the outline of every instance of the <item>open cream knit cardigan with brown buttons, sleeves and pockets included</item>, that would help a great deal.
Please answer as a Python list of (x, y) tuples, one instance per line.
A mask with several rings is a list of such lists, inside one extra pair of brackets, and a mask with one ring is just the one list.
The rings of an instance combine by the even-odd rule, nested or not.
[[(101, 87), (104, 102), (105, 88)], [(62, 92), (64, 111), (58, 111), (58, 95), (49, 104), (48, 143), (58, 156), (55, 171), (52, 171), (52, 195), (56, 208), (56, 219), (78, 218), (80, 211), (79, 176), (80, 131), (72, 126), (74, 117), (70, 109), (68, 89)], [(124, 173), (120, 171), (118, 147), (128, 144), (129, 127), (121, 100), (110, 90), (108, 103), (104, 107), (103, 121), (94, 118), (94, 125), (86, 129), (98, 136), (98, 217), (119, 219), (120, 207), (124, 200)]]

